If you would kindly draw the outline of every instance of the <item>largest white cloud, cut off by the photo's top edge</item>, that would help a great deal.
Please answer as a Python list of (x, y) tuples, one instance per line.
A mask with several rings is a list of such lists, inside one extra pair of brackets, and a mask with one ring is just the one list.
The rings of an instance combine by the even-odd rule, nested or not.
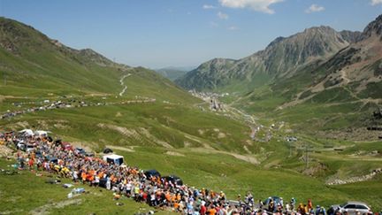
[(220, 4), (230, 8), (250, 8), (256, 12), (272, 14), (274, 11), (269, 8), (271, 4), (283, 2), (284, 0), (219, 0)]

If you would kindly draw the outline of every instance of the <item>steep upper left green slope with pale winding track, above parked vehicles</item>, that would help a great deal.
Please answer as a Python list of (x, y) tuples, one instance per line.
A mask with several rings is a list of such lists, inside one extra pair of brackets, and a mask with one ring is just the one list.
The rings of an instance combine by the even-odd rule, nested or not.
[(157, 96), (173, 102), (195, 102), (192, 96), (157, 73), (119, 65), (94, 50), (73, 50), (11, 19), (0, 19), (0, 94), (4, 96), (115, 95)]

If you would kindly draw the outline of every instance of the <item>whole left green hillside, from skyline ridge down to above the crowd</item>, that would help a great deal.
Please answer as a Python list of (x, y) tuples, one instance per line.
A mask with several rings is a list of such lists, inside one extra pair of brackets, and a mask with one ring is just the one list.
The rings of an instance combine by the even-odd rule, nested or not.
[[(200, 99), (154, 71), (115, 64), (94, 50), (73, 50), (15, 20), (0, 19), (0, 32), (2, 113), (35, 109), (47, 99), (73, 104), (4, 119), (4, 129), (40, 127), (94, 149), (187, 145), (244, 151), (245, 123), (201, 111)], [(87, 105), (77, 107), (79, 102)]]

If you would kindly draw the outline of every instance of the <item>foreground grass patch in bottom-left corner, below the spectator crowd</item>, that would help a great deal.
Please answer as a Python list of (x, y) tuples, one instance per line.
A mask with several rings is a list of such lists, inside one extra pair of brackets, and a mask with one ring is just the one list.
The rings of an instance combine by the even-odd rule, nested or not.
[[(9, 165), (14, 161), (7, 161), (0, 158), (0, 168), (12, 169)], [(50, 177), (48, 177), (50, 176)], [(122, 198), (118, 202), (124, 203), (122, 206), (116, 205), (113, 201), (111, 191), (103, 188), (91, 188), (88, 185), (76, 184), (73, 188), (85, 188), (88, 191), (80, 196), (73, 197), (74, 202), (63, 207), (57, 207), (61, 203), (68, 201), (67, 194), (72, 188), (63, 188), (61, 184), (46, 183), (52, 179), (48, 173), (42, 177), (35, 176), (30, 171), (19, 171), (16, 175), (0, 175), (0, 213), (10, 214), (30, 214), (31, 211), (42, 212), (43, 208), (52, 214), (134, 214), (153, 210), (144, 203), (135, 203), (131, 199)], [(63, 180), (62, 183), (71, 182)], [(4, 186), (6, 185), (6, 186)], [(159, 211), (156, 214), (171, 214), (171, 212)]]

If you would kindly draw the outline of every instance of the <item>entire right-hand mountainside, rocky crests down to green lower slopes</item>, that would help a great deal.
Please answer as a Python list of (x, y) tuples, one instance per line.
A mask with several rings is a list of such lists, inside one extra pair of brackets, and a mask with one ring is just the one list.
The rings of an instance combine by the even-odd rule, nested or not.
[(310, 27), (276, 38), (246, 58), (212, 59), (175, 82), (186, 89), (228, 93), (221, 98), (225, 103), (305, 132), (378, 138), (364, 128), (382, 125), (371, 119), (382, 105), (381, 29), (382, 15), (363, 32)]

